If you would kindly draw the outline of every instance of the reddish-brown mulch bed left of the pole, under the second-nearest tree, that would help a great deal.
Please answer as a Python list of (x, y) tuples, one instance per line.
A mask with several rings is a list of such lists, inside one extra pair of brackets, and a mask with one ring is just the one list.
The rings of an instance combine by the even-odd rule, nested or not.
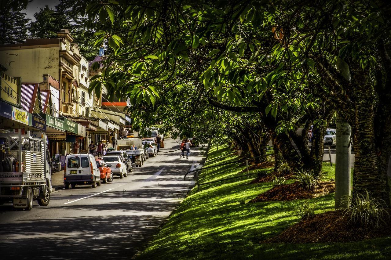
[(277, 185), (249, 202), (289, 201), (294, 199), (311, 199), (334, 192), (335, 182), (319, 182), (312, 190), (303, 189), (299, 183)]

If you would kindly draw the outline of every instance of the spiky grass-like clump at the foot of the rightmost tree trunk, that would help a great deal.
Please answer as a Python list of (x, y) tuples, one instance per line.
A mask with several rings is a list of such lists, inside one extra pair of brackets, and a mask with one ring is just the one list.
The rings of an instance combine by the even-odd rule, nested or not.
[(384, 203), (384, 201), (378, 198), (369, 198), (368, 191), (365, 192), (365, 196), (357, 194), (349, 198), (350, 207), (344, 210), (343, 216), (348, 215), (350, 217), (349, 223), (353, 222), (360, 226), (375, 226), (377, 228), (380, 223), (387, 225), (390, 215), (389, 209), (383, 208), (380, 203)]

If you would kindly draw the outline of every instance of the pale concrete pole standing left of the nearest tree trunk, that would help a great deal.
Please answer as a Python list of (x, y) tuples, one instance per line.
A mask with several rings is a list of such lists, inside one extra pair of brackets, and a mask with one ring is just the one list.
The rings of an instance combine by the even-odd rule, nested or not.
[[(337, 68), (350, 81), (349, 66), (337, 58)], [(335, 209), (348, 208), (350, 196), (350, 125), (337, 112), (335, 146)]]

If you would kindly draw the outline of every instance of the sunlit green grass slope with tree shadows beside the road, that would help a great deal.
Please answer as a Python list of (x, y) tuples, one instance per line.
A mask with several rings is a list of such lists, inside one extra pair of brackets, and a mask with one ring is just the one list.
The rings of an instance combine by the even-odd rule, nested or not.
[[(212, 146), (208, 159), (229, 154), (227, 146)], [(237, 156), (216, 158), (207, 166), (237, 160)], [(324, 164), (325, 180), (335, 169)], [(246, 166), (228, 165), (206, 169), (200, 182), (228, 178)], [(255, 172), (253, 170), (251, 172)], [(253, 177), (255, 175), (252, 175)], [(260, 240), (285, 230), (299, 221), (298, 205), (304, 200), (248, 203), (272, 187), (271, 183), (249, 184), (247, 177), (194, 187), (167, 224), (139, 259), (357, 259), (390, 258), (391, 237), (336, 244), (260, 244)], [(316, 213), (334, 209), (334, 194), (316, 199)]]

